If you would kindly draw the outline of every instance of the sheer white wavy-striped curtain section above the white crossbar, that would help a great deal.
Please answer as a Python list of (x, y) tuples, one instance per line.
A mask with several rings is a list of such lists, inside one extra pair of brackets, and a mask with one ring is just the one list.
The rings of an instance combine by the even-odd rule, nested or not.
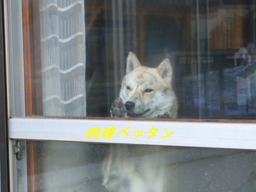
[(84, 3), (40, 0), (44, 116), (86, 116)]

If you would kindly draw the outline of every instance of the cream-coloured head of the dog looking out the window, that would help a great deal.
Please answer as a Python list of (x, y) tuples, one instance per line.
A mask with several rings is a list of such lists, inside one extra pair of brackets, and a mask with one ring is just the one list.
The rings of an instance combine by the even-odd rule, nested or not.
[(160, 112), (169, 111), (175, 97), (172, 76), (169, 59), (164, 59), (157, 68), (148, 68), (130, 52), (120, 90), (127, 116), (155, 118)]

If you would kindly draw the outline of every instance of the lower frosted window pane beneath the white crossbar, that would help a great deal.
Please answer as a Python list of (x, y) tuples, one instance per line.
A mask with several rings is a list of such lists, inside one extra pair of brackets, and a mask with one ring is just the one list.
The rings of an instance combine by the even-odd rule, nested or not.
[(255, 191), (255, 158), (243, 150), (28, 141), (28, 191)]

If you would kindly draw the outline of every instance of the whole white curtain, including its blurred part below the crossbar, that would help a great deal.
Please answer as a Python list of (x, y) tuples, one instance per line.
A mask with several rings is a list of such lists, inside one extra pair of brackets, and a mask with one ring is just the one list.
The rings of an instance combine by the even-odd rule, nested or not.
[[(40, 0), (40, 33), (44, 116), (86, 116), (84, 2)], [(84, 191), (83, 143), (44, 142), (40, 153), (39, 191)]]

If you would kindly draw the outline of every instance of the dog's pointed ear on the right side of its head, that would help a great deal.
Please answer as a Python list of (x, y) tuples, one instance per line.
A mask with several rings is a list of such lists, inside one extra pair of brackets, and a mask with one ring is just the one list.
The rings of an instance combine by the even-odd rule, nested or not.
[(159, 75), (167, 82), (172, 82), (173, 68), (169, 59), (164, 59), (157, 67)]

